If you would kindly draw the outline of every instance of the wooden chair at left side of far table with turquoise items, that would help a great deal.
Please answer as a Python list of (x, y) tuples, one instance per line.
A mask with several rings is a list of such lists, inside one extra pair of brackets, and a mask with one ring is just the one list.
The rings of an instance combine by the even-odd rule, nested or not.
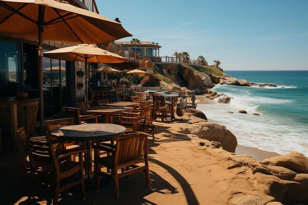
[[(161, 121), (164, 121), (164, 118), (167, 120), (168, 113), (170, 114), (171, 111), (166, 104), (165, 97), (153, 94), (153, 103), (153, 119), (156, 119), (156, 117), (160, 117)], [(172, 120), (171, 115), (170, 120)]]

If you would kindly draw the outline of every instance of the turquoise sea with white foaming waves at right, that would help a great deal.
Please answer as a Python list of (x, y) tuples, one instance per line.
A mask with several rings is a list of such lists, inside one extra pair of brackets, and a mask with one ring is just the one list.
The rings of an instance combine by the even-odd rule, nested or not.
[[(225, 73), (277, 87), (217, 85), (212, 90), (232, 97), (230, 104), (200, 104), (197, 109), (210, 121), (225, 125), (239, 145), (279, 154), (298, 151), (308, 157), (308, 71)], [(247, 114), (240, 114), (239, 110), (246, 110)]]

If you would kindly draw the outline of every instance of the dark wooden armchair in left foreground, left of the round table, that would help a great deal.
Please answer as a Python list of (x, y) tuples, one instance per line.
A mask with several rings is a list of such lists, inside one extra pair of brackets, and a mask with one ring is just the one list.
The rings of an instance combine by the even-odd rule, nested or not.
[[(54, 193), (53, 205), (58, 204), (59, 193), (78, 184), (81, 185), (82, 199), (85, 199), (84, 162), (82, 156), (86, 149), (76, 147), (57, 155), (55, 146), (57, 145), (49, 142), (28, 141), (31, 164), (29, 202), (33, 185), (44, 185), (51, 188), (52, 193)], [(72, 155), (78, 155), (79, 160), (77, 162), (67, 160)], [(79, 173), (79, 178), (76, 179), (77, 173)], [(63, 184), (72, 176), (74, 176), (74, 180)]]

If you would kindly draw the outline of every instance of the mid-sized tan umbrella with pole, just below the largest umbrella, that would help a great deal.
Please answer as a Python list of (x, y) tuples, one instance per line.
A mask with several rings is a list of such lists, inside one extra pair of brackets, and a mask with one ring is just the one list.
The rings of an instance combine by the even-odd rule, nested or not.
[(101, 62), (101, 63), (119, 63), (128, 62), (126, 59), (117, 54), (105, 51), (101, 48), (91, 44), (79, 44), (76, 46), (69, 46), (59, 48), (56, 50), (44, 53), (44, 57), (51, 59), (61, 59), (67, 61), (85, 61), (86, 63), (86, 95), (88, 96), (88, 63), (87, 62)]

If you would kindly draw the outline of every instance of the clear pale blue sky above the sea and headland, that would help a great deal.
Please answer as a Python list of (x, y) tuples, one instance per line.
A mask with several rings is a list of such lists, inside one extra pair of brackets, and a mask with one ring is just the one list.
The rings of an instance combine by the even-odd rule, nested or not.
[(159, 56), (188, 52), (223, 70), (308, 70), (308, 0), (96, 0)]

